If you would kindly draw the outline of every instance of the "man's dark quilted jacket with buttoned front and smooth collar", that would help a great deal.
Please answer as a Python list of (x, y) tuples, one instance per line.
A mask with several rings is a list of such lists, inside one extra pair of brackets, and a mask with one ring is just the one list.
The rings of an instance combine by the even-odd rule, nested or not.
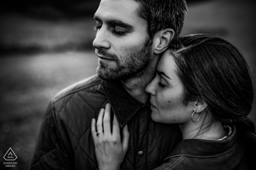
[(120, 81), (92, 76), (59, 92), (49, 103), (30, 169), (97, 169), (90, 124), (106, 103), (120, 127), (128, 123), (129, 149), (122, 170), (152, 170), (182, 140), (177, 125), (151, 120), (149, 102), (133, 99)]

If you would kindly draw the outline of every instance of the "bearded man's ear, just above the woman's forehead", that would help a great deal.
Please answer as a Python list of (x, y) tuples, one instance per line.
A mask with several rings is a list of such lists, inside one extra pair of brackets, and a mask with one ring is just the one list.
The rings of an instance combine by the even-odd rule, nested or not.
[(174, 37), (174, 31), (171, 28), (163, 29), (154, 36), (153, 47), (155, 54), (164, 52)]

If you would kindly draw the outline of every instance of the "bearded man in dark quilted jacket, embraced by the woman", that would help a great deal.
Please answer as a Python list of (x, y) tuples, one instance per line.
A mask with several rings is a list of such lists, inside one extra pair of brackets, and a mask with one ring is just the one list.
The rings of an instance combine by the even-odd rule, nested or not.
[(182, 0), (101, 1), (94, 16), (98, 76), (51, 100), (30, 169), (96, 169), (90, 124), (106, 103), (121, 128), (128, 124), (129, 149), (121, 168), (150, 170), (163, 163), (182, 137), (176, 125), (151, 120), (145, 87), (180, 33), (186, 10)]

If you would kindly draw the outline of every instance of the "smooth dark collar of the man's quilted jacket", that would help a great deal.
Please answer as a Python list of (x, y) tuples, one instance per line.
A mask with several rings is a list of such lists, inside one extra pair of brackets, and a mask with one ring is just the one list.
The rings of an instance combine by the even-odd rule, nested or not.
[(102, 83), (113, 112), (116, 115), (120, 127), (123, 128), (144, 104), (135, 100), (124, 89), (121, 81), (102, 80)]

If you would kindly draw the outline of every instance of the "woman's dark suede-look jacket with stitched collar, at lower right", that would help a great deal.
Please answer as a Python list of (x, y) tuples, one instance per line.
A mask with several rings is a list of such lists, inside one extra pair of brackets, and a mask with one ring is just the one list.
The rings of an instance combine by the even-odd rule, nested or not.
[(154, 170), (248, 170), (244, 146), (233, 132), (221, 141), (202, 139), (182, 140), (165, 158), (166, 163)]

